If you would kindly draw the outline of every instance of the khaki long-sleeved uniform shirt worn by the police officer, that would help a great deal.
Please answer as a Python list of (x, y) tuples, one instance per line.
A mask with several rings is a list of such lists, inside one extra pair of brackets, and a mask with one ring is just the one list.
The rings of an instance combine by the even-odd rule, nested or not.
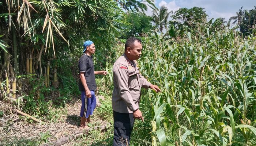
[(140, 74), (136, 63), (130, 61), (125, 54), (121, 55), (114, 63), (113, 81), (113, 111), (132, 113), (132, 111), (137, 110), (141, 87), (149, 88), (150, 82)]

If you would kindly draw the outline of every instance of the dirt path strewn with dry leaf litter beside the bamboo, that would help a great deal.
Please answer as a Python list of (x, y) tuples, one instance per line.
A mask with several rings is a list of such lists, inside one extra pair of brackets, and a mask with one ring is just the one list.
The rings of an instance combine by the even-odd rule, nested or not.
[[(38, 123), (28, 124), (21, 122), (19, 120), (19, 115), (16, 114), (13, 116), (5, 116), (0, 118), (0, 137), (2, 137), (0, 139), (17, 137), (38, 138), (40, 140), (40, 133), (46, 134), (46, 132), (48, 132), (50, 136), (47, 138), (47, 140), (54, 141), (67, 135), (72, 135), (76, 132), (83, 131), (79, 129), (80, 108), (80, 99), (75, 99), (73, 103), (67, 104), (64, 109), (61, 109), (67, 110), (67, 115), (61, 115), (58, 123), (45, 123), (42, 125), (39, 125)], [(97, 110), (97, 108), (95, 110)], [(10, 126), (8, 126), (8, 130), (6, 130), (6, 125), (8, 122), (12, 122), (12, 124), (10, 124)], [(100, 118), (92, 118), (91, 120), (91, 126), (101, 126), (103, 124), (107, 124), (107, 122), (101, 120)], [(63, 146), (70, 146), (73, 142), (71, 141), (65, 143)]]

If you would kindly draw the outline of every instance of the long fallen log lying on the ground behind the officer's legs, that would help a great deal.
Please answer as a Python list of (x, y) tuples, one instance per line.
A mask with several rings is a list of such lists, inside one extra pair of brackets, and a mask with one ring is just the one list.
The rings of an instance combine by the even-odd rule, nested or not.
[(80, 136), (82, 136), (84, 134), (87, 134), (89, 131), (96, 130), (96, 129), (106, 130), (109, 127), (110, 127), (110, 124), (104, 124), (102, 126), (91, 127), (89, 130), (85, 130), (85, 131), (82, 131), (82, 132), (77, 132), (73, 135), (68, 135), (66, 137), (59, 138), (56, 141), (46, 143), (44, 146), (61, 146), (61, 145), (64, 145), (66, 142), (68, 142), (72, 139), (77, 139)]

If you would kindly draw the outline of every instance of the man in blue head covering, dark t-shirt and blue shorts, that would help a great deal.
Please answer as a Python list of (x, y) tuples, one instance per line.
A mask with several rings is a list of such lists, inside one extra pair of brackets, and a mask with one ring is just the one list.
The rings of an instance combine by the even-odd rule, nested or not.
[[(94, 90), (97, 85), (95, 82), (95, 74), (106, 75), (107, 72), (94, 71), (93, 57), (95, 54), (95, 45), (92, 41), (86, 41), (83, 44), (83, 55), (79, 59), (78, 68), (80, 72), (79, 90), (81, 91), (82, 107), (80, 111), (81, 123), (80, 128), (88, 128), (86, 125), (90, 122), (90, 115), (96, 107), (96, 98)], [(86, 121), (87, 120), (87, 121)]]

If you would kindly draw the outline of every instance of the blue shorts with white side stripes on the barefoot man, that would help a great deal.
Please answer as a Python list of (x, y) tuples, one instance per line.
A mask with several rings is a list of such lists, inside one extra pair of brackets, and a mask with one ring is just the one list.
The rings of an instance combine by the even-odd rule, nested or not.
[(91, 91), (91, 98), (86, 97), (85, 91), (81, 91), (82, 107), (80, 111), (80, 117), (88, 118), (89, 115), (93, 115), (93, 111), (96, 107), (96, 97), (94, 90)]

